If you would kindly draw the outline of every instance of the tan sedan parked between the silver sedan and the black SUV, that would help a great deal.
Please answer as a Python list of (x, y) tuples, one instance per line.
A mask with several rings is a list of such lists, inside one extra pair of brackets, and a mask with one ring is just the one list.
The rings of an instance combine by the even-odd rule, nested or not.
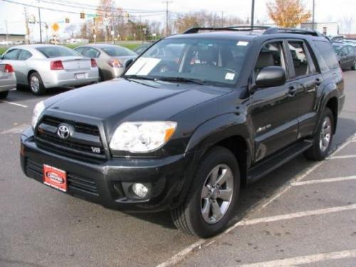
[(75, 51), (86, 58), (94, 58), (98, 64), (100, 80), (111, 80), (122, 75), (125, 63), (137, 57), (137, 53), (122, 46), (92, 44), (78, 46)]

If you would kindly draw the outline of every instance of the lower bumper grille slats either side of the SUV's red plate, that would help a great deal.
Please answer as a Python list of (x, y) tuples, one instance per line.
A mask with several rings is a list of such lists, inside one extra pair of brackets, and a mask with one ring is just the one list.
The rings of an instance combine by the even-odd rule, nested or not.
[[(34, 162), (31, 159), (26, 159), (26, 173), (32, 173), (32, 176), (42, 182), (43, 181), (43, 164)], [(82, 177), (78, 174), (67, 172), (68, 192), (80, 191), (98, 196), (98, 187), (94, 179)]]

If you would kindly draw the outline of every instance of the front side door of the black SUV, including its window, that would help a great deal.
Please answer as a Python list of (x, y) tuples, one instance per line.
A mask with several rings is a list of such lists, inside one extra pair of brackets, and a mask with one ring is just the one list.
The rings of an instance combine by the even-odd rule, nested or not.
[[(256, 61), (255, 76), (267, 66), (281, 66), (289, 77), (284, 41), (272, 41), (262, 46)], [(250, 114), (255, 135), (255, 162), (297, 140), (297, 86), (295, 80), (288, 80), (285, 85), (259, 88), (251, 95)]]

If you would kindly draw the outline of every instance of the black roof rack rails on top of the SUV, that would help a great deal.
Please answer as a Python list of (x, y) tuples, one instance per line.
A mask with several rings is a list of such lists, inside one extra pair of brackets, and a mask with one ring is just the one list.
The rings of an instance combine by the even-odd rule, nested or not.
[(302, 28), (280, 28), (271, 26), (229, 26), (229, 27), (193, 27), (184, 31), (183, 34), (198, 33), (199, 31), (256, 31), (264, 30), (263, 34), (277, 34), (277, 33), (295, 33), (307, 34), (310, 36), (323, 36), (318, 31), (307, 30)]

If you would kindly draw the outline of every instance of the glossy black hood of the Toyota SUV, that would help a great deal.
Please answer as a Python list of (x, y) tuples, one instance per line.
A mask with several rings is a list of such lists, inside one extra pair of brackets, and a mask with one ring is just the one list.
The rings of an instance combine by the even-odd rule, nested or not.
[(114, 127), (122, 121), (169, 120), (178, 112), (232, 90), (119, 78), (56, 95), (48, 98), (45, 104), (51, 112), (93, 117)]

